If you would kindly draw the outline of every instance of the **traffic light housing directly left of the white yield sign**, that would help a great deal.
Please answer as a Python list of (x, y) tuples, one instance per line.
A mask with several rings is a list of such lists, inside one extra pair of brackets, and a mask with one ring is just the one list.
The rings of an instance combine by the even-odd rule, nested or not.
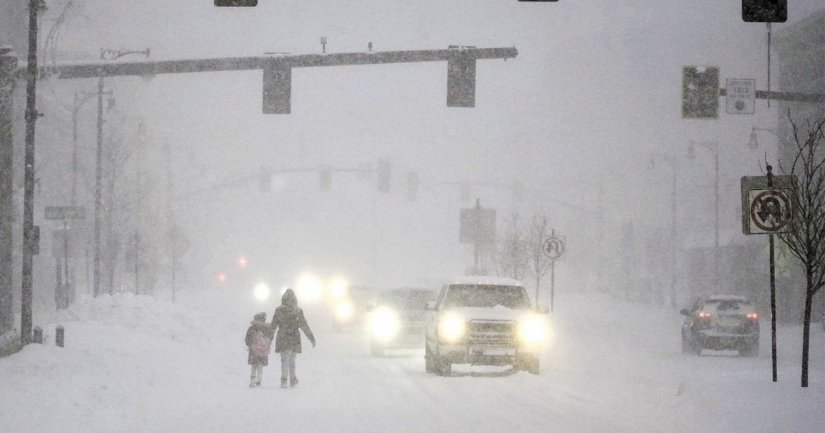
[(682, 68), (681, 116), (684, 119), (719, 118), (719, 67)]

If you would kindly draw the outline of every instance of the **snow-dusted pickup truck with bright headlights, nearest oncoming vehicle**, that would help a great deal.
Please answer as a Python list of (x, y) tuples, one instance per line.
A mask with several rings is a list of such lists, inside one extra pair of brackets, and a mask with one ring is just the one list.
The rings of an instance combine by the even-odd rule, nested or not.
[(535, 311), (517, 280), (465, 276), (427, 304), (424, 360), (428, 373), (450, 374), (453, 364), (512, 365), (540, 373), (549, 333), (547, 310)]

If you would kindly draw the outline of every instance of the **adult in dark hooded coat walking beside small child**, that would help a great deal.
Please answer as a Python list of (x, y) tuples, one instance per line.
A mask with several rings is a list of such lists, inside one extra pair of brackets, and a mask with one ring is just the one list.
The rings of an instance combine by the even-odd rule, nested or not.
[(290, 379), (290, 386), (298, 384), (295, 376), (295, 354), (301, 353), (301, 335), (298, 330), (304, 331), (309, 342), (315, 347), (315, 337), (309, 329), (304, 310), (298, 307), (298, 298), (295, 291), (286, 289), (281, 297), (281, 305), (272, 315), (272, 330), (278, 331), (275, 339), (275, 351), (281, 354), (281, 388), (286, 388), (286, 379)]

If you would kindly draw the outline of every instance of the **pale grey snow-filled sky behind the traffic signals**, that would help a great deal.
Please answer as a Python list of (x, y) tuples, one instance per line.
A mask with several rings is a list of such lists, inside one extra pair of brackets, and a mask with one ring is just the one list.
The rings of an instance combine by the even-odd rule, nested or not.
[[(669, 227), (671, 168), (651, 167), (651, 153), (678, 166), (680, 232), (712, 236), (713, 157), (697, 148), (697, 158), (688, 160), (689, 140), (719, 141), (719, 218), (733, 233), (739, 176), (760, 174), (758, 160), (775, 152), (771, 135), (760, 142), (774, 147), (746, 146), (752, 125), (775, 127), (775, 105), (768, 109), (764, 101), (757, 101), (755, 115), (727, 115), (723, 100), (719, 120), (681, 119), (683, 65), (719, 65), (723, 86), (725, 78), (756, 78), (757, 89), (766, 88), (766, 28), (742, 22), (739, 2), (84, 4), (86, 17), (68, 23), (59, 49), (92, 59), (101, 47), (151, 47), (152, 59), (319, 53), (322, 35), (328, 52), (365, 51), (367, 42), (375, 50), (519, 51), (506, 62), (479, 61), (472, 109), (446, 107), (443, 63), (295, 69), (290, 115), (261, 113), (261, 71), (107, 80), (118, 106), (146, 120), (154, 143), (172, 144), (181, 190), (262, 166), (393, 162), (389, 196), (376, 195), (374, 181), (349, 174), (334, 174), (332, 191), (320, 192), (317, 176), (306, 174), (276, 178), (269, 195), (252, 181), (176, 205), (196, 240), (187, 258), (191, 266), (214, 266), (205, 272), (244, 253), (271, 263), (281, 278), (322, 268), (368, 279), (374, 260), (376, 280), (385, 284), (463, 273), (472, 253), (457, 242), (458, 209), (470, 204), (458, 200), (457, 186), (439, 182), (465, 178), (523, 182), (530, 192), (517, 210), (548, 209), (554, 227), (576, 246), (571, 261), (592, 260), (587, 252), (615, 241), (628, 219)], [(774, 30), (817, 4), (791, 2), (788, 24)], [(58, 10), (47, 13), (46, 27)], [(90, 90), (94, 82), (59, 84)], [(91, 109), (87, 117), (83, 136), (92, 140)], [(410, 170), (422, 179), (414, 204), (403, 198)], [(600, 182), (605, 239), (596, 238), (592, 214)], [(475, 189), (476, 196), (497, 208), (500, 219), (509, 217), (508, 191)]]

